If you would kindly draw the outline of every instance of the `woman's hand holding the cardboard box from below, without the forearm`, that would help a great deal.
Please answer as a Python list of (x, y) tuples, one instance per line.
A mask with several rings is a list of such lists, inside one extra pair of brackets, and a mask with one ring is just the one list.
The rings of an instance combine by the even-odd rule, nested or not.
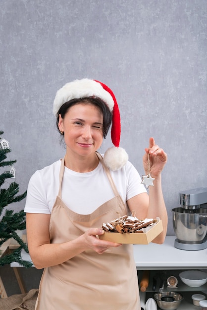
[(79, 238), (83, 239), (86, 250), (94, 250), (98, 254), (103, 254), (108, 248), (117, 248), (121, 246), (119, 243), (101, 240), (98, 238), (99, 235), (103, 235), (104, 230), (100, 228), (89, 228)]

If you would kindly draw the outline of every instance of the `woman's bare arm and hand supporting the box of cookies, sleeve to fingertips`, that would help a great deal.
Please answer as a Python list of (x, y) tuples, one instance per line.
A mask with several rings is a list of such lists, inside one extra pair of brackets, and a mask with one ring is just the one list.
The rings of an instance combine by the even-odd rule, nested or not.
[(100, 228), (89, 228), (78, 238), (64, 243), (51, 243), (50, 218), (50, 214), (26, 214), (28, 248), (37, 269), (58, 265), (87, 250), (103, 254), (110, 247), (120, 246), (98, 239), (97, 236), (104, 233)]

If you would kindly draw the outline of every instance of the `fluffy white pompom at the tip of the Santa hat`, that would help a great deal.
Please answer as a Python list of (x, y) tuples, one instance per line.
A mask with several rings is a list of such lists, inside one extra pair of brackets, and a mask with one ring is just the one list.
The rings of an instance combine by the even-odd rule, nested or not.
[(112, 147), (104, 154), (104, 164), (113, 171), (122, 168), (128, 159), (128, 154), (122, 148)]

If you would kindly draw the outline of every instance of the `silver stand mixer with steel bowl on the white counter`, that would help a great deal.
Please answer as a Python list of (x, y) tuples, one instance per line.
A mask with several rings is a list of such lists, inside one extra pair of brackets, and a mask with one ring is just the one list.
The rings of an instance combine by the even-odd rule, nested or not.
[(176, 234), (174, 247), (181, 250), (207, 248), (207, 188), (179, 193), (181, 207), (172, 209)]

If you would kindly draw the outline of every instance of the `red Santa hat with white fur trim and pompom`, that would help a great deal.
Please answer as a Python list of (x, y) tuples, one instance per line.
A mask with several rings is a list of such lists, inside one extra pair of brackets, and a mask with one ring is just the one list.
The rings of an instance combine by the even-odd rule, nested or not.
[(91, 79), (75, 80), (65, 84), (56, 93), (53, 113), (57, 117), (62, 104), (72, 99), (86, 97), (102, 99), (112, 113), (111, 140), (114, 147), (105, 152), (104, 164), (113, 171), (118, 170), (126, 164), (128, 155), (124, 149), (119, 147), (121, 123), (118, 104), (113, 92), (105, 84)]

